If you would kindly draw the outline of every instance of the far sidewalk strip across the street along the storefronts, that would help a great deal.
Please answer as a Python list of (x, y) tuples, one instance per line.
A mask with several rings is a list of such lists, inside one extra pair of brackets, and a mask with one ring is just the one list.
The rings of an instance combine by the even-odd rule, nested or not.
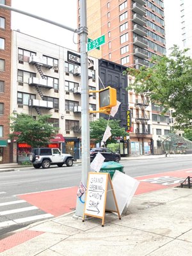
[[(192, 154), (170, 154), (167, 157), (165, 155), (149, 155), (149, 156), (131, 156), (131, 157), (121, 157), (121, 161), (129, 161), (129, 160), (139, 160), (139, 159), (157, 159), (157, 158), (172, 158), (172, 157), (187, 157), (191, 156)], [(77, 161), (74, 161), (74, 164), (79, 164), (81, 163), (81, 159), (77, 159)], [(24, 168), (28, 167), (25, 165), (19, 165), (17, 163), (9, 163), (9, 164), (0, 164), (0, 172), (8, 172), (8, 171), (13, 171), (14, 169), (19, 169), (19, 168)], [(31, 165), (31, 167), (33, 167)]]

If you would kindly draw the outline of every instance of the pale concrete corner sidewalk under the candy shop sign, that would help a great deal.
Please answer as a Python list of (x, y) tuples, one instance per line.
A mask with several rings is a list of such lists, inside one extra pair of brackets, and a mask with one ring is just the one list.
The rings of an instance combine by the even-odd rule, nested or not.
[[(102, 220), (90, 218), (82, 222), (80, 218), (74, 218), (74, 212), (35, 223), (22, 231), (32, 239), (0, 255), (191, 255), (191, 209), (191, 189), (153, 191), (134, 196), (122, 220), (116, 214), (106, 212), (104, 227), (101, 227)], [(8, 246), (12, 238), (21, 241), (22, 232), (3, 239), (4, 246)]]

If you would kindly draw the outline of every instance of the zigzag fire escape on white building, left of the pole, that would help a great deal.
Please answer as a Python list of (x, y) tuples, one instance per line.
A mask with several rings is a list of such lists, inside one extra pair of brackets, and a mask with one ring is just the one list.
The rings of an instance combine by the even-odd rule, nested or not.
[(42, 79), (38, 79), (37, 77), (29, 78), (29, 85), (35, 86), (38, 94), (40, 95), (40, 97), (42, 99), (42, 100), (30, 99), (29, 106), (31, 108), (35, 108), (38, 115), (42, 115), (42, 113), (40, 112), (40, 108), (45, 108), (45, 109), (53, 108), (52, 102), (45, 100), (44, 95), (40, 89), (40, 87), (44, 87), (44, 88), (48, 88), (48, 89), (52, 88), (52, 85), (47, 84), (47, 79), (46, 79), (44, 73), (42, 72), (42, 67), (50, 69), (50, 68), (52, 68), (52, 66), (48, 65), (44, 59), (40, 59), (35, 55), (33, 55), (29, 58), (29, 64), (35, 65), (40, 76), (42, 77)]

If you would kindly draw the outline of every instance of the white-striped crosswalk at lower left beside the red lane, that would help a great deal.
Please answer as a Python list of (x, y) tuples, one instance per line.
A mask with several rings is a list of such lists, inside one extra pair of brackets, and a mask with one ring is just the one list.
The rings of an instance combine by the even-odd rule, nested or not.
[[(0, 192), (0, 194), (4, 194)], [(33, 223), (54, 217), (52, 214), (42, 211), (35, 205), (25, 200), (16, 200), (17, 197), (0, 197), (0, 228), (7, 228), (22, 223)]]

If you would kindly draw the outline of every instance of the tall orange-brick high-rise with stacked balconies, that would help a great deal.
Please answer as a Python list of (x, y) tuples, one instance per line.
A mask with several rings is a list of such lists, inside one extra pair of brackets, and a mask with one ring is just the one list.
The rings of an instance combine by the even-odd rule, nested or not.
[(87, 20), (88, 37), (106, 39), (96, 58), (138, 69), (165, 54), (163, 0), (87, 0)]

